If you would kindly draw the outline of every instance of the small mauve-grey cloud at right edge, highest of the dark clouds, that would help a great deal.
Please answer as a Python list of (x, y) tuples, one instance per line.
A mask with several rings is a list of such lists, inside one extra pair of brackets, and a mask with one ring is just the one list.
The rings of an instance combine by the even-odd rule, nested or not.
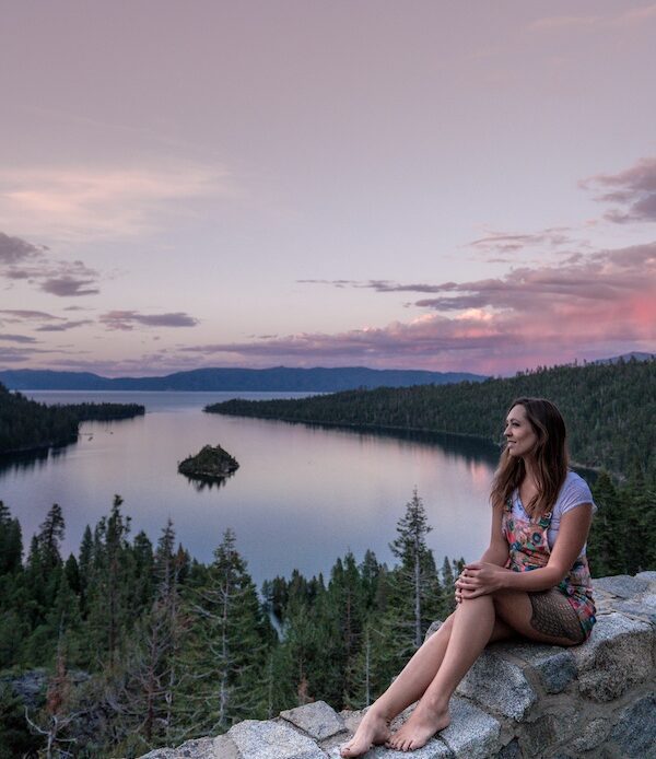
[(656, 221), (656, 157), (640, 159), (617, 174), (597, 174), (579, 183), (584, 189), (600, 191), (599, 202), (617, 203), (604, 214), (618, 224)]

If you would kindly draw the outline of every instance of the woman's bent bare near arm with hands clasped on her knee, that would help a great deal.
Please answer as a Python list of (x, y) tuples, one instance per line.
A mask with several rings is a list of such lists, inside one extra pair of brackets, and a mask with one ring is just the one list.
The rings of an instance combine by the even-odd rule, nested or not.
[[(456, 581), (461, 598), (495, 591), (547, 591), (555, 587), (567, 574), (587, 540), (593, 518), (593, 504), (582, 503), (563, 514), (553, 550), (547, 567), (530, 572), (513, 572), (494, 561), (477, 561), (467, 564)], [(489, 551), (490, 549), (488, 549)], [(487, 557), (488, 551), (483, 554)]]

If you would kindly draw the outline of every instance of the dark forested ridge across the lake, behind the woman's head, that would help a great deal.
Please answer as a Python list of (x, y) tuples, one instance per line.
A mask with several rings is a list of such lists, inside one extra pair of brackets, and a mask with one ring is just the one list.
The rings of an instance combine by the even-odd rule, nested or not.
[(573, 459), (625, 474), (656, 467), (656, 361), (541, 367), (507, 380), (348, 390), (293, 400), (229, 400), (206, 411), (321, 424), (447, 432), (501, 443), (514, 398), (538, 396), (561, 409)]

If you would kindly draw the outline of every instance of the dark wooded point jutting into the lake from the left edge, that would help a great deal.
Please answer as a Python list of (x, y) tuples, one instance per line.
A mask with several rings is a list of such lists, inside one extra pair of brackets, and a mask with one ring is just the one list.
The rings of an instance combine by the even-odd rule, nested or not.
[(73, 443), (80, 422), (128, 419), (144, 412), (137, 404), (46, 406), (0, 384), (0, 455)]

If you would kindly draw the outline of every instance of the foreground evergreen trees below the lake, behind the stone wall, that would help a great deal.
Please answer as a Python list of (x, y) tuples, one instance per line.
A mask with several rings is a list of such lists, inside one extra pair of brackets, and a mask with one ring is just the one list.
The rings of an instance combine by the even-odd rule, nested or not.
[[(596, 478), (594, 576), (656, 569), (655, 490), (640, 467)], [(232, 530), (206, 565), (171, 521), (154, 546), (132, 536), (122, 506), (65, 559), (59, 504), (25, 551), (0, 502), (0, 759), (137, 757), (313, 700), (363, 708), (454, 608), (464, 562), (433, 556), (417, 492), (394, 565), (347, 553), (328, 577), (295, 571), (259, 593)]]

